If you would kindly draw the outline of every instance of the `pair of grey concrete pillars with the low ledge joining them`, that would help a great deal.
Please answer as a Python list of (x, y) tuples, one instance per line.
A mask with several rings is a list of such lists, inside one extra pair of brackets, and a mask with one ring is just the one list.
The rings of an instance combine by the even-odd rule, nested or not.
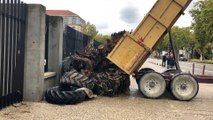
[(44, 73), (46, 8), (28, 5), (26, 22), (24, 100), (40, 101), (47, 88), (59, 82), (62, 63), (63, 19), (49, 18), (48, 72)]

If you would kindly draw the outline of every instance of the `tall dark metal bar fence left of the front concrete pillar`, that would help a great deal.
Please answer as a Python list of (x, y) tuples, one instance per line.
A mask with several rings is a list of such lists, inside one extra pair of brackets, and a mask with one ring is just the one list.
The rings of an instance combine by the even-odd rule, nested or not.
[(27, 5), (0, 0), (0, 109), (22, 101)]

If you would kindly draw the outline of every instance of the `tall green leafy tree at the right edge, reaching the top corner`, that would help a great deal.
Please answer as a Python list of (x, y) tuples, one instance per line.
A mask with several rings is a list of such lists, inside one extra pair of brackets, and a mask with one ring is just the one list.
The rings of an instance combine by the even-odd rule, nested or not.
[(193, 17), (193, 30), (196, 40), (196, 50), (203, 60), (209, 44), (213, 43), (213, 1), (198, 1), (190, 11)]

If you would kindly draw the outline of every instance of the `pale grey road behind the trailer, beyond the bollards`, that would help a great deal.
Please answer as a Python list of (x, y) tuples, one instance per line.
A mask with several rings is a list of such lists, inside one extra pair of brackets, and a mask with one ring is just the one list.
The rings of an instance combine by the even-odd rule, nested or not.
[[(151, 62), (157, 65), (161, 65), (162, 60), (161, 59), (153, 59), (149, 58), (147, 59), (147, 62)], [(180, 68), (183, 72), (190, 72), (192, 73), (192, 62), (182, 62), (180, 61)], [(203, 66), (205, 65), (205, 75), (213, 75), (213, 65), (212, 64), (203, 64), (203, 63), (194, 63), (195, 64), (195, 71), (194, 74), (201, 75), (203, 72)]]

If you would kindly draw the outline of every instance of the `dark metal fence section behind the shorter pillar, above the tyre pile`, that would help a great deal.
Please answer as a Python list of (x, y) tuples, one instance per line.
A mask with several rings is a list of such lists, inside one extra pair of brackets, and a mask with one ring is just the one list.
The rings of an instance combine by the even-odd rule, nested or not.
[(90, 40), (89, 36), (66, 25), (63, 33), (63, 58), (84, 48)]

